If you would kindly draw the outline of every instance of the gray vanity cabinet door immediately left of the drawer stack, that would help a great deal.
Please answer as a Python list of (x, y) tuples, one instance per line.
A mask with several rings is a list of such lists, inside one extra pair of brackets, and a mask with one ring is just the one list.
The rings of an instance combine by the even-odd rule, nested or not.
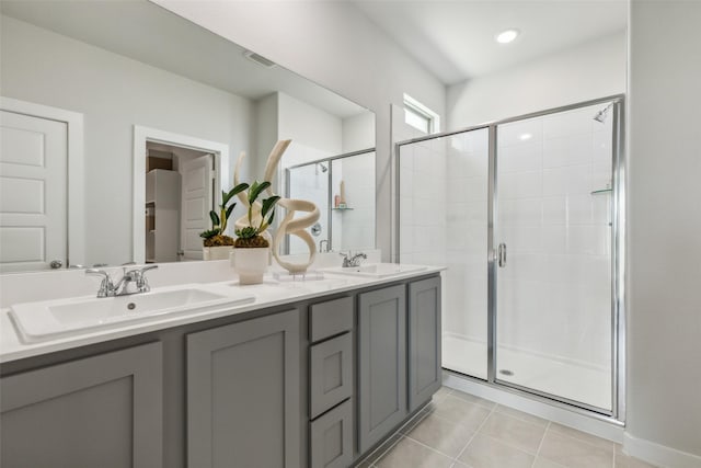
[(189, 467), (300, 466), (299, 312), (187, 335)]

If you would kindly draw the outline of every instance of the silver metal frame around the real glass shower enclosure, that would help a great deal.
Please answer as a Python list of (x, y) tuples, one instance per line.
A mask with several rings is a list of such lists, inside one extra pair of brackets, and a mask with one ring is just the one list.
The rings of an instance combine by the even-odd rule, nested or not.
[[(612, 191), (611, 191), (611, 410), (597, 408), (581, 401), (570, 400), (556, 395), (543, 392), (532, 388), (499, 380), (496, 375), (496, 230), (495, 219), (497, 219), (497, 185), (496, 178), (498, 155), (496, 150), (497, 127), (503, 124), (525, 121), (528, 118), (541, 117), (544, 115), (573, 111), (597, 104), (612, 105)], [(400, 161), (401, 147), (418, 141), (432, 140), (436, 138), (449, 137), (480, 129), (489, 130), (489, 186), (487, 186), (487, 378), (457, 373), (450, 373), (473, 379), (487, 386), (496, 387), (501, 390), (528, 395), (533, 399), (548, 402), (550, 404), (570, 409), (572, 411), (587, 414), (607, 422), (622, 425), (625, 421), (625, 133), (624, 133), (624, 94), (600, 98), (596, 100), (579, 102), (545, 111), (529, 113), (517, 117), (490, 122), (482, 125), (461, 128), (458, 130), (444, 132), (440, 134), (427, 135), (400, 141), (394, 145), (394, 239), (392, 255), (399, 262), (400, 255)]]

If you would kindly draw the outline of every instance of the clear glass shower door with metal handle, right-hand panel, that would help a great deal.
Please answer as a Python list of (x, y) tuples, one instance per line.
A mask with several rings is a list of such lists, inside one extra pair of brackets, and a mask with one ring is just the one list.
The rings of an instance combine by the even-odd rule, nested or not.
[(594, 118), (606, 106), (496, 128), (495, 379), (610, 411), (612, 118)]

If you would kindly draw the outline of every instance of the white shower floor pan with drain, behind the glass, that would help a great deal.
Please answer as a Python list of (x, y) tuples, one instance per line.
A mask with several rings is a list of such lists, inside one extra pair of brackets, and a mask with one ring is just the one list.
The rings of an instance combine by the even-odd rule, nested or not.
[[(486, 343), (455, 334), (443, 335), (443, 367), (486, 379)], [(497, 349), (497, 379), (611, 409), (611, 372), (535, 353)], [(510, 370), (513, 375), (501, 374)]]

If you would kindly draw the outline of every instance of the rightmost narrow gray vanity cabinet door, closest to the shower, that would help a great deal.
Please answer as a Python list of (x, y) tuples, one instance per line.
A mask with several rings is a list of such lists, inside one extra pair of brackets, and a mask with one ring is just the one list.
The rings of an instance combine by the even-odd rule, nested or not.
[(440, 388), (440, 277), (409, 285), (409, 411)]

